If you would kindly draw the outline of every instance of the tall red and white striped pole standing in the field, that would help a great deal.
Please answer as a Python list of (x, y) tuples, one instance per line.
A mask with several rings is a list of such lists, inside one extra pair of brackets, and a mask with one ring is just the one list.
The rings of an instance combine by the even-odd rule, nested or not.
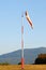
[(21, 15), (21, 69), (24, 69), (24, 15)]

